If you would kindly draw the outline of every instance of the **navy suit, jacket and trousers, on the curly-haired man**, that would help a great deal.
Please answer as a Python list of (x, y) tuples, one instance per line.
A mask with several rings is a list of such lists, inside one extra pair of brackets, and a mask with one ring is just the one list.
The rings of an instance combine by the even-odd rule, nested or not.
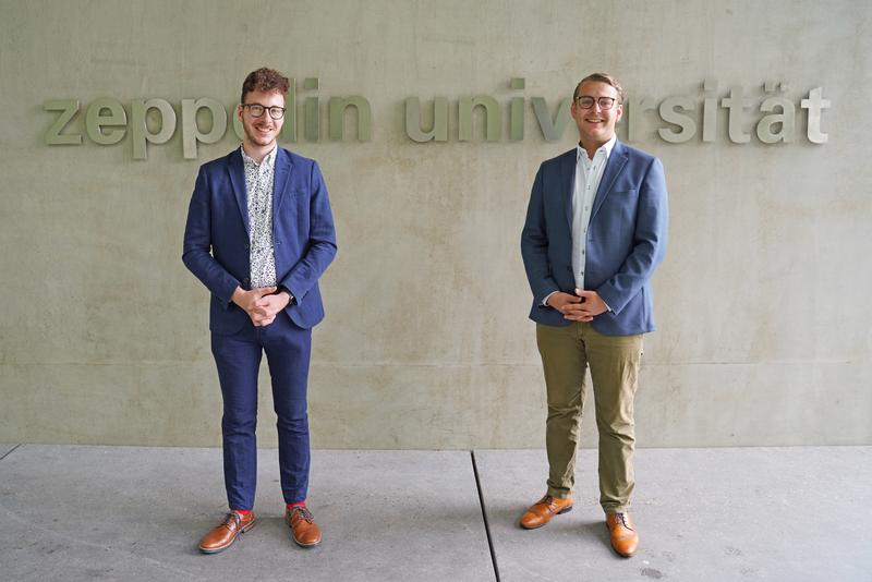
[(209, 329), (223, 396), (225, 480), (231, 509), (254, 504), (257, 371), (267, 354), (278, 416), (279, 465), (287, 502), (308, 483), (306, 383), (311, 328), (324, 318), (318, 278), (336, 255), (327, 187), (317, 162), (276, 154), (272, 242), (277, 284), (294, 298), (265, 327), (231, 301), (250, 289), (247, 194), (239, 149), (199, 169), (187, 214), (182, 260), (211, 292)]

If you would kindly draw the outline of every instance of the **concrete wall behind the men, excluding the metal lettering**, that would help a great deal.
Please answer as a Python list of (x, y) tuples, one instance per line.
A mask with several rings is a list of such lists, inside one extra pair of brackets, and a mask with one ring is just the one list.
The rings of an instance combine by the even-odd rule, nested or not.
[[(199, 162), (177, 131), (133, 159), (47, 146), (44, 101), (160, 97), (232, 105), (268, 64), (372, 104), (373, 136), (286, 146), (322, 163), (339, 255), (314, 335), (313, 444), (330, 448), (544, 446), (544, 385), (519, 235), (538, 163), (573, 146), (537, 129), (585, 73), (632, 98), (789, 85), (792, 143), (668, 144), (670, 244), (655, 277), (637, 402), (644, 446), (870, 444), (872, 9), (864, 1), (17, 2), (0, 0), (0, 441), (217, 445), (220, 395), (207, 293), (181, 240)], [(524, 77), (523, 92), (511, 77)], [(824, 88), (826, 144), (799, 99)], [(315, 93), (311, 93), (314, 95)], [(502, 106), (498, 143), (457, 141), (457, 100)], [(405, 136), (404, 99), (448, 97), (447, 143)], [(523, 141), (507, 136), (523, 96)], [(305, 94), (300, 93), (302, 99)], [(302, 100), (299, 101), (302, 107)], [(82, 133), (84, 110), (66, 132)], [(626, 123), (621, 136), (627, 135)], [(264, 375), (263, 444), (275, 442)], [(592, 416), (584, 429), (591, 436)]]

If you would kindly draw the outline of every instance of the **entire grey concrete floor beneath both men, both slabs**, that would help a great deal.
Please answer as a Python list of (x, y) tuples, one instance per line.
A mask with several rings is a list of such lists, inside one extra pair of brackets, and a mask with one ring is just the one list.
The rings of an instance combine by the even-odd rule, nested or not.
[[(632, 559), (608, 547), (592, 451), (574, 509), (523, 531), (543, 451), (475, 451), (499, 580), (869, 580), (872, 448), (645, 449)], [(23, 445), (0, 460), (3, 580), (495, 580), (467, 451), (316, 451), (312, 550), (281, 520), (262, 450), (261, 523), (226, 551), (195, 544), (225, 510), (219, 449)]]

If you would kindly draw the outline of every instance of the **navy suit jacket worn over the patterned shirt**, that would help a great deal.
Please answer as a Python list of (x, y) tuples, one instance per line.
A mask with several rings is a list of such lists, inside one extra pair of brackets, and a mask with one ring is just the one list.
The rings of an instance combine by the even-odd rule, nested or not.
[[(307, 329), (324, 318), (318, 278), (336, 256), (336, 232), (318, 163), (279, 147), (272, 189), (276, 280), (294, 296), (286, 312)], [(199, 168), (182, 262), (211, 291), (209, 329), (239, 331), (249, 315), (231, 301), (250, 287), (249, 204), (239, 148)]]

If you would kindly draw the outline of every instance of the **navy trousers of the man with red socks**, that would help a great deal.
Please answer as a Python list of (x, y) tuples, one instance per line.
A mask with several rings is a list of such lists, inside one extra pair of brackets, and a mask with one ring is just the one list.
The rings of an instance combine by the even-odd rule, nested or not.
[(257, 372), (266, 353), (278, 417), (279, 472), (284, 501), (306, 498), (308, 415), (306, 380), (312, 330), (294, 325), (282, 310), (266, 327), (251, 322), (229, 336), (213, 332), (211, 352), (223, 397), (225, 484), (230, 509), (252, 509), (257, 484)]

